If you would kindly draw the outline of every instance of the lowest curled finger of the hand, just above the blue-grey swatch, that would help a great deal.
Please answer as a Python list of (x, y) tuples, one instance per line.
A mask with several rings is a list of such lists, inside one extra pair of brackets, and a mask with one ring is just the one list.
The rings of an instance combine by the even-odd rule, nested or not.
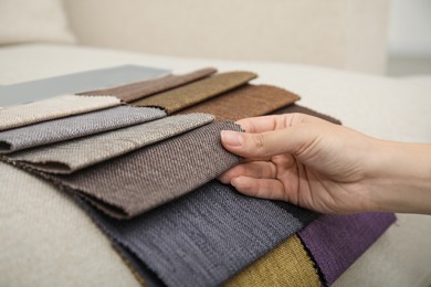
[(232, 179), (231, 184), (239, 192), (250, 196), (270, 200), (288, 200), (283, 183), (275, 179), (238, 177)]

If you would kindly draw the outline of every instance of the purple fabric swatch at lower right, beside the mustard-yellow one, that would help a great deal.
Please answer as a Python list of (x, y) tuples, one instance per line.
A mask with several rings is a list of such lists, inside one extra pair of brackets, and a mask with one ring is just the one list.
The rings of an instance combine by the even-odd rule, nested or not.
[(322, 215), (298, 235), (329, 286), (395, 221), (392, 213)]

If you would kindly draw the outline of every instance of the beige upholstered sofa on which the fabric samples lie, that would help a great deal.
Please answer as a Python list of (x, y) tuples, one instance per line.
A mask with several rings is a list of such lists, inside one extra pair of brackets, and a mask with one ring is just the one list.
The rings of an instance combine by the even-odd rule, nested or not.
[[(8, 2), (2, 1), (0, 8)], [(431, 78), (376, 75), (385, 66), (386, 0), (67, 0), (63, 18), (56, 0), (9, 2), (21, 7), (8, 21), (25, 23), (9, 23), (9, 30), (21, 30), (4, 32), (0, 9), (0, 85), (120, 64), (178, 73), (202, 66), (250, 70), (260, 75), (256, 83), (291, 89), (302, 105), (349, 127), (431, 142)], [(29, 19), (41, 3), (49, 17)], [(13, 6), (8, 9), (11, 13)], [(6, 166), (0, 182), (0, 286), (138, 285), (66, 196)], [(335, 286), (430, 285), (431, 217), (398, 219)]]

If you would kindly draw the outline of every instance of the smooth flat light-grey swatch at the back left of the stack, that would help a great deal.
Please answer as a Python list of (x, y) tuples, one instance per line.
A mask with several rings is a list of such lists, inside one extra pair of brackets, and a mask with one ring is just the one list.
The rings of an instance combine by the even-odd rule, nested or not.
[(21, 105), (57, 95), (107, 88), (167, 74), (169, 71), (162, 68), (122, 65), (29, 81), (0, 86), (0, 106)]

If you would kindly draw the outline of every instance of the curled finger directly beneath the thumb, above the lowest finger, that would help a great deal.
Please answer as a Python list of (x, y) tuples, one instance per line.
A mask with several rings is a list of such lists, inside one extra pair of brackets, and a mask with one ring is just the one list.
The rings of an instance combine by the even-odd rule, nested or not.
[(233, 178), (241, 176), (255, 179), (275, 179), (277, 169), (273, 162), (270, 161), (253, 161), (238, 164), (222, 176), (219, 180), (223, 183), (230, 183)]

